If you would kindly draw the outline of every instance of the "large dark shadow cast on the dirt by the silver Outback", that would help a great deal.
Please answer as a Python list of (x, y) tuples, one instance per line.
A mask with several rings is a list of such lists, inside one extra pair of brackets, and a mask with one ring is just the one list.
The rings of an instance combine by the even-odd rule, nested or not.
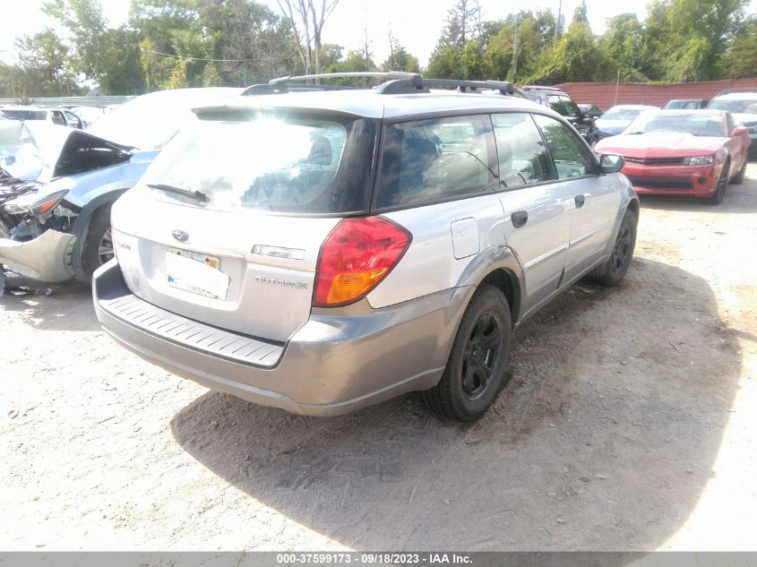
[(415, 396), (309, 418), (209, 392), (171, 426), (205, 467), (344, 546), (662, 546), (712, 475), (739, 378), (707, 282), (634, 261), (621, 288), (574, 287), (527, 322), (512, 364), (475, 425)]

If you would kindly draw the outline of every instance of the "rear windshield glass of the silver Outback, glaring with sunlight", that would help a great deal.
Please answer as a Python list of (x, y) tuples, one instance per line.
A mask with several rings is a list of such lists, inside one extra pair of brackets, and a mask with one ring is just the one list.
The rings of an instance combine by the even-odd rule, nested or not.
[[(200, 191), (213, 209), (367, 210), (373, 120), (237, 112), (219, 117), (198, 120), (178, 133), (143, 182)], [(185, 200), (179, 193), (166, 194)]]

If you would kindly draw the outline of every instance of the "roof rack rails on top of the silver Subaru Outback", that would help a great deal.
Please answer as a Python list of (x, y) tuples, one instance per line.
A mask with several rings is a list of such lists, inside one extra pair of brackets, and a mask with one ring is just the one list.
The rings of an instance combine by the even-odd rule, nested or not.
[(354, 72), (354, 73), (318, 73), (280, 77), (262, 84), (255, 84), (242, 93), (243, 95), (280, 94), (291, 90), (348, 90), (360, 87), (330, 84), (297, 84), (320, 79), (341, 78), (373, 78), (384, 79), (376, 88), (378, 94), (410, 94), (417, 92), (430, 92), (429, 87), (453, 87), (460, 92), (481, 92), (482, 90), (498, 90), (503, 95), (524, 96), (512, 82), (506, 81), (463, 81), (458, 79), (424, 79), (418, 73), (406, 73), (404, 71), (387, 72)]

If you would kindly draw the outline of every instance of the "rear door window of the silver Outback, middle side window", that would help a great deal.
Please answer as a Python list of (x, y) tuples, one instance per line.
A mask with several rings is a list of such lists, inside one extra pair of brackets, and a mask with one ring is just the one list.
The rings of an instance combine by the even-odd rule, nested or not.
[(501, 189), (555, 179), (546, 146), (529, 114), (492, 115)]

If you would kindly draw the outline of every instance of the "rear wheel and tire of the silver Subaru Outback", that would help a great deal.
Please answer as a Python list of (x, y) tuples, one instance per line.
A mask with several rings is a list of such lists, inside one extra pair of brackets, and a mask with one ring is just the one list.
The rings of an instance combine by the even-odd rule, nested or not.
[(478, 288), (462, 316), (442, 378), (420, 392), (426, 406), (443, 419), (483, 416), (507, 382), (511, 334), (510, 306), (502, 291)]

